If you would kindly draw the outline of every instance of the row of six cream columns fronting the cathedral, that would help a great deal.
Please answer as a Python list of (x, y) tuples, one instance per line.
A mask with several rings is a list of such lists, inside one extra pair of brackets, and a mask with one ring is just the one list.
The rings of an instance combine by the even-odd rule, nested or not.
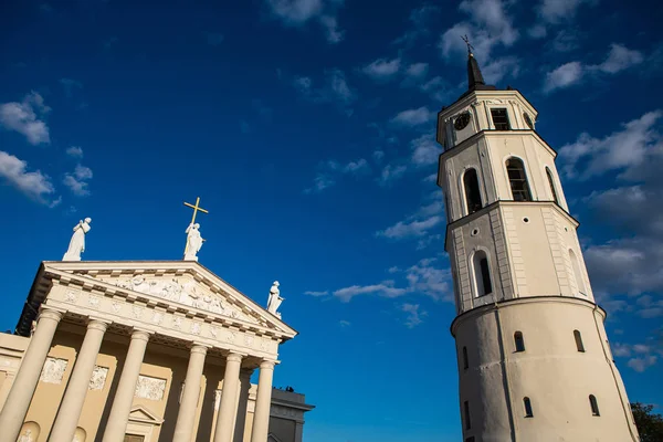
[[(2, 429), (0, 431), (0, 442), (15, 442), (19, 438), (62, 316), (63, 314), (59, 311), (42, 307), (21, 367), (7, 397), (2, 412), (0, 412), (0, 429)], [(71, 442), (74, 439), (90, 378), (108, 325), (107, 322), (102, 319), (91, 318), (88, 320), (83, 345), (51, 429), (49, 442)], [(140, 329), (135, 329), (131, 333), (117, 390), (115, 397), (112, 398), (113, 404), (104, 430), (103, 442), (124, 441), (136, 382), (140, 373), (149, 336), (149, 332)], [(208, 349), (208, 346), (198, 343), (191, 346), (172, 442), (190, 442), (196, 430), (198, 396)], [(223, 390), (217, 414), (213, 442), (242, 441), (251, 375), (245, 370), (241, 370), (242, 359), (243, 355), (236, 352), (230, 352), (225, 358)], [(263, 360), (260, 365), (251, 442), (266, 442), (267, 440), (273, 373), (274, 361)]]

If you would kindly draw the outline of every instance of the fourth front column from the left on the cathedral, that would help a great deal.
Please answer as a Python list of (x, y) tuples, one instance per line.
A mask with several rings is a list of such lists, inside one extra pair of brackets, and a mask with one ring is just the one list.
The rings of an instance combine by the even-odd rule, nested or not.
[(191, 356), (189, 356), (189, 366), (187, 367), (187, 378), (185, 379), (185, 391), (182, 392), (182, 399), (177, 413), (172, 442), (191, 442), (207, 349), (206, 346), (198, 344), (191, 347)]

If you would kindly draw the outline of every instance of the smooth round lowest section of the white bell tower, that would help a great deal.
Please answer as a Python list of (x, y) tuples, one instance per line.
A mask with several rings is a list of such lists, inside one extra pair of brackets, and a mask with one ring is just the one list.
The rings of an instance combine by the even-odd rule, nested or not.
[[(633, 418), (612, 360), (604, 314), (589, 302), (537, 297), (487, 305), (456, 318), (464, 438), (477, 442), (631, 441)], [(579, 330), (585, 352), (577, 349)], [(525, 351), (516, 351), (520, 332)], [(469, 368), (464, 368), (463, 347)], [(589, 396), (600, 415), (592, 415)], [(534, 417), (526, 418), (524, 398)], [(464, 402), (470, 406), (466, 429)]]

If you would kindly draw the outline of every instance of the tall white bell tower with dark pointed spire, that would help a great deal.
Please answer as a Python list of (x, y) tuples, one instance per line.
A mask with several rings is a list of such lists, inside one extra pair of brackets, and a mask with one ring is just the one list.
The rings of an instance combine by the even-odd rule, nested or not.
[(557, 152), (516, 90), (484, 83), (438, 115), (465, 442), (639, 441)]

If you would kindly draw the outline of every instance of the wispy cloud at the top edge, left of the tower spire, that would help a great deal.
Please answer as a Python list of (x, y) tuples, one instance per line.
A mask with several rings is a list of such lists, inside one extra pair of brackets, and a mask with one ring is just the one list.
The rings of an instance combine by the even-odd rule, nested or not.
[(308, 21), (317, 21), (325, 31), (329, 43), (343, 40), (344, 32), (338, 29), (337, 11), (343, 0), (265, 0), (272, 14), (284, 24), (302, 27)]

